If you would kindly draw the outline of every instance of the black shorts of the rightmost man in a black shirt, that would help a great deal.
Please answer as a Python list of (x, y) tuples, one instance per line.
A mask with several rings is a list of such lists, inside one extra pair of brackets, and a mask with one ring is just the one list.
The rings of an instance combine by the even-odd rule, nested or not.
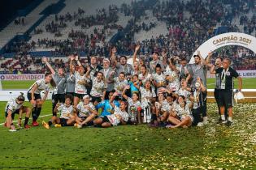
[(219, 106), (230, 108), (233, 105), (233, 91), (232, 90), (219, 90)]

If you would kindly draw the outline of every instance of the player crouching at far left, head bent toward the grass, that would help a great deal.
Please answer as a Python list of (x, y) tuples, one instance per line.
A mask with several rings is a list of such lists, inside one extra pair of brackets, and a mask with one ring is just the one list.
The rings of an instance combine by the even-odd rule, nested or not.
[(5, 113), (6, 113), (5, 125), (7, 126), (7, 128), (10, 128), (11, 130), (15, 130), (15, 125), (13, 125), (15, 114), (20, 115), (18, 125), (21, 126), (22, 113), (26, 113), (24, 128), (28, 129), (30, 127), (28, 125), (28, 120), (30, 117), (31, 109), (28, 108), (27, 106), (23, 106), (24, 100), (25, 100), (24, 93), (21, 92), (20, 96), (18, 96), (17, 98), (13, 98), (7, 102), (7, 106), (5, 109)]

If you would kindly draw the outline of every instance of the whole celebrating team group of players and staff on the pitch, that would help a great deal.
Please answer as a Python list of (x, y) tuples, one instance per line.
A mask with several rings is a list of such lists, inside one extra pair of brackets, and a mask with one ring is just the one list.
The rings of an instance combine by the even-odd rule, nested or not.
[[(232, 125), (233, 78), (238, 79), (238, 91), (242, 81), (233, 70), (228, 58), (216, 57), (211, 63), (212, 53), (206, 59), (198, 51), (194, 63), (188, 64), (184, 57), (169, 57), (165, 50), (159, 56), (152, 54), (147, 63), (137, 57), (137, 45), (132, 57), (132, 65), (126, 56), (117, 56), (115, 47), (111, 56), (104, 58), (102, 66), (98, 57), (89, 57), (89, 66), (80, 63), (74, 54), (68, 57), (70, 68), (54, 68), (46, 57), (50, 72), (28, 89), (28, 100), (32, 107), (24, 106), (24, 94), (7, 102), (5, 116), (7, 128), (15, 130), (15, 114), (19, 114), (21, 126), (25, 114), (24, 128), (32, 115), (32, 125), (37, 126), (41, 107), (50, 91), (53, 117), (42, 125), (111, 127), (115, 125), (150, 124), (154, 127), (189, 127), (207, 124), (206, 72), (215, 74), (215, 100), (219, 108), (219, 122)], [(41, 98), (41, 91), (45, 95)]]

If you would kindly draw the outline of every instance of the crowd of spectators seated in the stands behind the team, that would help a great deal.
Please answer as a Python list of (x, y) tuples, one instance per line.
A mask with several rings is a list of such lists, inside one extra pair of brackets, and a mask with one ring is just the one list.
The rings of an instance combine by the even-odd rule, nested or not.
[[(81, 26), (80, 31), (68, 33), (67, 40), (50, 40), (38, 39), (37, 42), (31, 43), (25, 41), (14, 42), (6, 47), (7, 53), (20, 53), (27, 55), (28, 51), (33, 51), (36, 48), (54, 49), (52, 53), (55, 55), (67, 56), (71, 53), (85, 53), (86, 56), (98, 55), (100, 57), (109, 57), (111, 43), (106, 42), (106, 34), (110, 29), (124, 30), (121, 26), (115, 24), (118, 20), (118, 12), (124, 15), (132, 16), (128, 21), (127, 29), (124, 37), (115, 42), (115, 47), (119, 54), (131, 55), (135, 44), (141, 45), (142, 55), (149, 56), (154, 51), (162, 53), (166, 51), (169, 56), (186, 57), (189, 61), (192, 53), (199, 45), (210, 37), (215, 36), (215, 26), (217, 23), (225, 24), (230, 32), (247, 32), (249, 34), (256, 30), (256, 15), (251, 19), (246, 16), (249, 11), (255, 11), (254, 1), (251, 0), (236, 0), (231, 1), (155, 1), (152, 4), (145, 1), (132, 1), (131, 4), (122, 4), (120, 7), (111, 5), (109, 9), (98, 9), (96, 15), (85, 15), (85, 11), (81, 8), (74, 14), (67, 13), (66, 15), (55, 15), (55, 19), (46, 25), (47, 32), (53, 32), (61, 36), (61, 28), (66, 27), (68, 22), (76, 21), (76, 26)], [(133, 36), (135, 33), (144, 30), (150, 31), (156, 26), (156, 23), (138, 23), (141, 16), (145, 16), (145, 11), (152, 11), (152, 14), (160, 21), (167, 23), (168, 34), (152, 37), (150, 40), (142, 40), (134, 42)], [(185, 15), (184, 14), (189, 14)], [(240, 24), (244, 26), (244, 30), (236, 25), (232, 25), (232, 19), (240, 16)], [(227, 21), (227, 22), (226, 22)], [(87, 34), (82, 28), (89, 28), (101, 24), (102, 29), (95, 28), (92, 34)], [(41, 30), (38, 30), (38, 33)], [(43, 31), (42, 31), (43, 32)], [(236, 48), (228, 50), (229, 57), (236, 59), (240, 58), (245, 62), (245, 58), (249, 61), (254, 61), (255, 54), (243, 54), (241, 56)], [(244, 57), (244, 55), (246, 57)], [(234, 61), (236, 69), (253, 69), (254, 63), (248, 66), (239, 66), (237, 61)]]

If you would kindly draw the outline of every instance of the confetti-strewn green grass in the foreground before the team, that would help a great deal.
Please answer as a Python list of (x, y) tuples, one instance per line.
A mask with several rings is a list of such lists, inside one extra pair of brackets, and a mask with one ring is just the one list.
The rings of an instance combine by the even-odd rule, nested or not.
[[(41, 115), (50, 110), (46, 101)], [(1, 126), (0, 169), (255, 169), (256, 104), (236, 104), (232, 127), (216, 125), (215, 104), (208, 110), (209, 125), (177, 130), (40, 125), (11, 133)]]

